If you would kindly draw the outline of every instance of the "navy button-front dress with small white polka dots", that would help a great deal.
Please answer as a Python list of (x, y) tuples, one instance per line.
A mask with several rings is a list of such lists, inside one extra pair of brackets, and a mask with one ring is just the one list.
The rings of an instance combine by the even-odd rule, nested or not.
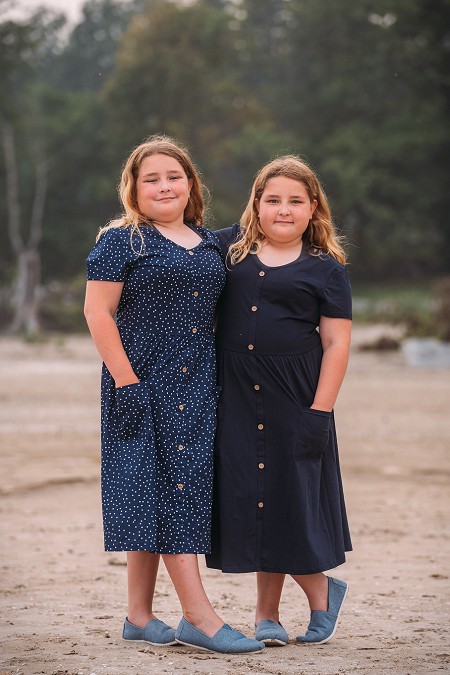
[[(141, 227), (105, 231), (88, 279), (121, 281), (116, 323), (140, 382), (102, 370), (105, 550), (210, 550), (216, 386), (213, 319), (225, 282), (214, 235), (186, 249)], [(141, 250), (142, 248), (142, 250)]]

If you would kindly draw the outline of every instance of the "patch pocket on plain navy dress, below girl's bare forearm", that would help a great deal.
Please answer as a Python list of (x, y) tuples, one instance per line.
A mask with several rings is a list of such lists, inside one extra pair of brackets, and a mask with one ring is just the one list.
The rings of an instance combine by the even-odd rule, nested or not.
[(320, 459), (328, 445), (331, 412), (302, 408), (295, 447), (296, 459)]

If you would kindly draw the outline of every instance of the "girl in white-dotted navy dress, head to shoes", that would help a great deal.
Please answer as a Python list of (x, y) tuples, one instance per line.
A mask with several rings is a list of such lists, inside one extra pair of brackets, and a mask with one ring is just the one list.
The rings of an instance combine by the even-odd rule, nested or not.
[[(139, 145), (120, 183), (124, 214), (87, 258), (85, 315), (103, 359), (105, 549), (127, 551), (123, 638), (220, 652), (264, 645), (224, 624), (202, 586), (210, 550), (218, 389), (213, 318), (225, 281), (202, 227), (202, 186), (186, 150), (165, 136)], [(155, 617), (162, 555), (183, 618)]]

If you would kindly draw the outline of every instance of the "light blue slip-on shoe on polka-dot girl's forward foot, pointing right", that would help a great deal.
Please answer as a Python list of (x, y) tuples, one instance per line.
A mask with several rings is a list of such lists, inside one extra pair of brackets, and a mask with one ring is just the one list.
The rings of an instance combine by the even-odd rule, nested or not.
[(264, 644), (245, 637), (242, 633), (225, 623), (217, 633), (208, 637), (203, 631), (186, 621), (183, 617), (175, 631), (176, 641), (187, 647), (197, 647), (208, 652), (221, 654), (251, 654), (264, 649)]

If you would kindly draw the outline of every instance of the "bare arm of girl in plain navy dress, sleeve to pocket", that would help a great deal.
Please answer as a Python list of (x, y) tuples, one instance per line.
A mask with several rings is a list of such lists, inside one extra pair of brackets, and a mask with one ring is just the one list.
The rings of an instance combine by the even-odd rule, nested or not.
[(347, 370), (350, 351), (350, 319), (332, 319), (322, 316), (319, 334), (323, 357), (319, 382), (311, 408), (332, 410)]

